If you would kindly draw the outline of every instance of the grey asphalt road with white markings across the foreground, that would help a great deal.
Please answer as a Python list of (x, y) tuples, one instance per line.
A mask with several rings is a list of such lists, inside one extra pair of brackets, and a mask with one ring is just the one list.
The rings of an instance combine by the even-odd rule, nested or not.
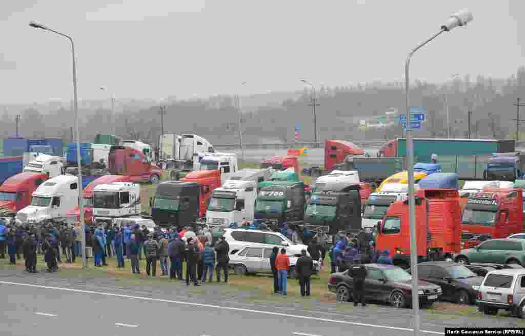
[[(3, 334), (24, 336), (405, 336), (409, 309), (353, 308), (294, 296), (247, 300), (224, 285), (122, 287), (113, 279), (0, 271)], [(237, 293), (239, 292), (239, 293)], [(227, 294), (229, 293), (229, 294)], [(342, 305), (342, 306), (341, 306)], [(511, 327), (518, 319), (466, 318), (421, 311), (421, 335), (445, 327)]]

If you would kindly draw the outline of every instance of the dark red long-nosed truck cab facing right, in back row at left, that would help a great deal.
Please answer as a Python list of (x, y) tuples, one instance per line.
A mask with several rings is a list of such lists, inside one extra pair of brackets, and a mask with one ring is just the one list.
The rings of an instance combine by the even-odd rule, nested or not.
[(134, 183), (155, 184), (162, 178), (162, 170), (152, 164), (141, 151), (124, 146), (111, 146), (108, 156), (108, 172), (113, 175), (127, 175)]

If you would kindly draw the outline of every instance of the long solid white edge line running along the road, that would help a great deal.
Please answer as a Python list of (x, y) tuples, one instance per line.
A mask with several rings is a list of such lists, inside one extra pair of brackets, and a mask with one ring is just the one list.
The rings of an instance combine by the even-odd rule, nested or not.
[[(223, 307), (223, 306), (208, 305), (208, 304), (198, 304), (198, 303), (186, 302), (186, 301), (158, 299), (158, 298), (152, 298), (152, 297), (142, 297), (142, 296), (115, 294), (115, 293), (95, 292), (93, 290), (82, 290), (82, 289), (74, 289), (74, 288), (51, 287), (51, 286), (23, 284), (23, 283), (8, 282), (8, 281), (0, 281), (0, 284), (35, 287), (35, 288), (45, 288), (45, 289), (56, 289), (56, 290), (64, 290), (65, 292), (74, 292), (74, 293), (83, 293), (83, 294), (98, 294), (98, 295), (105, 295), (105, 296), (123, 297), (123, 298), (139, 299), (139, 300), (145, 300), (145, 301), (156, 301), (156, 302), (163, 302), (163, 303), (170, 303), (170, 304), (177, 304), (177, 305), (186, 305), (186, 306), (195, 306), (195, 307), (225, 309), (225, 310), (234, 310), (234, 311), (245, 311), (245, 312), (258, 313), (258, 314), (264, 314), (264, 315), (291, 317), (291, 318), (304, 319), (304, 320), (313, 320), (313, 321), (321, 321), (321, 322), (332, 322), (332, 323), (349, 324), (350, 326), (371, 327), (371, 328), (401, 330), (401, 331), (414, 331), (414, 329), (412, 329), (412, 328), (392, 327), (392, 326), (385, 326), (383, 324), (371, 324), (371, 323), (341, 321), (341, 320), (325, 319), (325, 318), (313, 317), (313, 316), (291, 315), (291, 314), (275, 312), (275, 311), (264, 311), (264, 310), (235, 308), (235, 307)], [(443, 335), (443, 332), (437, 332), (437, 331), (431, 331), (431, 330), (419, 330), (419, 331), (420, 332), (424, 332), (424, 333), (429, 333), (429, 334)]]

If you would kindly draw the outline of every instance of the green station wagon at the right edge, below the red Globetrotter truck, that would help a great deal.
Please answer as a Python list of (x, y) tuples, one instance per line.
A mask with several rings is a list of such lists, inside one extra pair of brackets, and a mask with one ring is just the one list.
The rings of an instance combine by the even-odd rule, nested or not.
[(491, 239), (472, 249), (461, 250), (459, 264), (493, 263), (525, 265), (525, 239)]

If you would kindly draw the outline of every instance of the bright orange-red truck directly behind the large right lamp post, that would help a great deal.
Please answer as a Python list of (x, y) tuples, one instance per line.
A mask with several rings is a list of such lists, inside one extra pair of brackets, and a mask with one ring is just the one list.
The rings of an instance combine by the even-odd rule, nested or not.
[[(419, 189), (416, 194), (417, 255), (429, 252), (451, 257), (461, 250), (461, 210), (454, 189)], [(376, 248), (391, 252), (394, 264), (409, 265), (410, 226), (408, 200), (395, 201), (381, 222)]]

